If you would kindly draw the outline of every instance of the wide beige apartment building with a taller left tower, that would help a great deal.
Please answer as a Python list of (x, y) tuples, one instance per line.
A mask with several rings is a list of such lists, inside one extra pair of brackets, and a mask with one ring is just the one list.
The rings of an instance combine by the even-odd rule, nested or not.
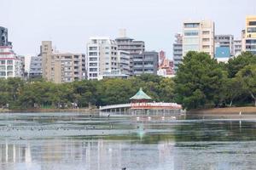
[(84, 80), (85, 55), (55, 53), (51, 41), (43, 41), (42, 47), (43, 78), (49, 82), (73, 82)]

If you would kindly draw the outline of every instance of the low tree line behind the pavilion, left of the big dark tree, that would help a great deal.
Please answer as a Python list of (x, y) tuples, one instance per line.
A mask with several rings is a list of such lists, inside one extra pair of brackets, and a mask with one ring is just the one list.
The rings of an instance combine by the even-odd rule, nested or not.
[[(154, 101), (173, 102), (170, 78), (145, 74), (129, 79), (84, 80), (56, 84), (43, 79), (25, 82), (20, 78), (0, 79), (0, 107), (9, 109), (72, 108), (130, 102), (139, 88)], [(74, 105), (75, 104), (75, 105)]]

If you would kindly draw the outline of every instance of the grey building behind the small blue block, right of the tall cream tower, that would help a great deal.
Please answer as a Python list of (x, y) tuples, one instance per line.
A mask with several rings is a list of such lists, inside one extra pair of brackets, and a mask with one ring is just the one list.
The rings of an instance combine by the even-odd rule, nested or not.
[(215, 48), (229, 48), (230, 55), (234, 56), (234, 36), (233, 35), (216, 35)]

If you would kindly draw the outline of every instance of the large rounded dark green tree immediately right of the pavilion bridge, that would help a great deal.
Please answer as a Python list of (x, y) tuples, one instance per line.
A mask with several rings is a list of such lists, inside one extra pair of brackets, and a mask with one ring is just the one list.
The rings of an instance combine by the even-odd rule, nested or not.
[(186, 109), (218, 105), (219, 87), (225, 78), (226, 74), (216, 59), (205, 53), (189, 52), (174, 78), (176, 101)]

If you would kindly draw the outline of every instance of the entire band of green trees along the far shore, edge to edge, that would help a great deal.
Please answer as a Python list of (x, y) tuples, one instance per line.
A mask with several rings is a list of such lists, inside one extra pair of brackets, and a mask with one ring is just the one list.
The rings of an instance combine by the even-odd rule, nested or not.
[(139, 88), (154, 101), (177, 102), (184, 109), (256, 106), (256, 56), (242, 53), (218, 63), (205, 53), (189, 52), (176, 77), (144, 74), (128, 79), (84, 80), (55, 84), (43, 79), (0, 79), (0, 107), (70, 108), (130, 102)]

